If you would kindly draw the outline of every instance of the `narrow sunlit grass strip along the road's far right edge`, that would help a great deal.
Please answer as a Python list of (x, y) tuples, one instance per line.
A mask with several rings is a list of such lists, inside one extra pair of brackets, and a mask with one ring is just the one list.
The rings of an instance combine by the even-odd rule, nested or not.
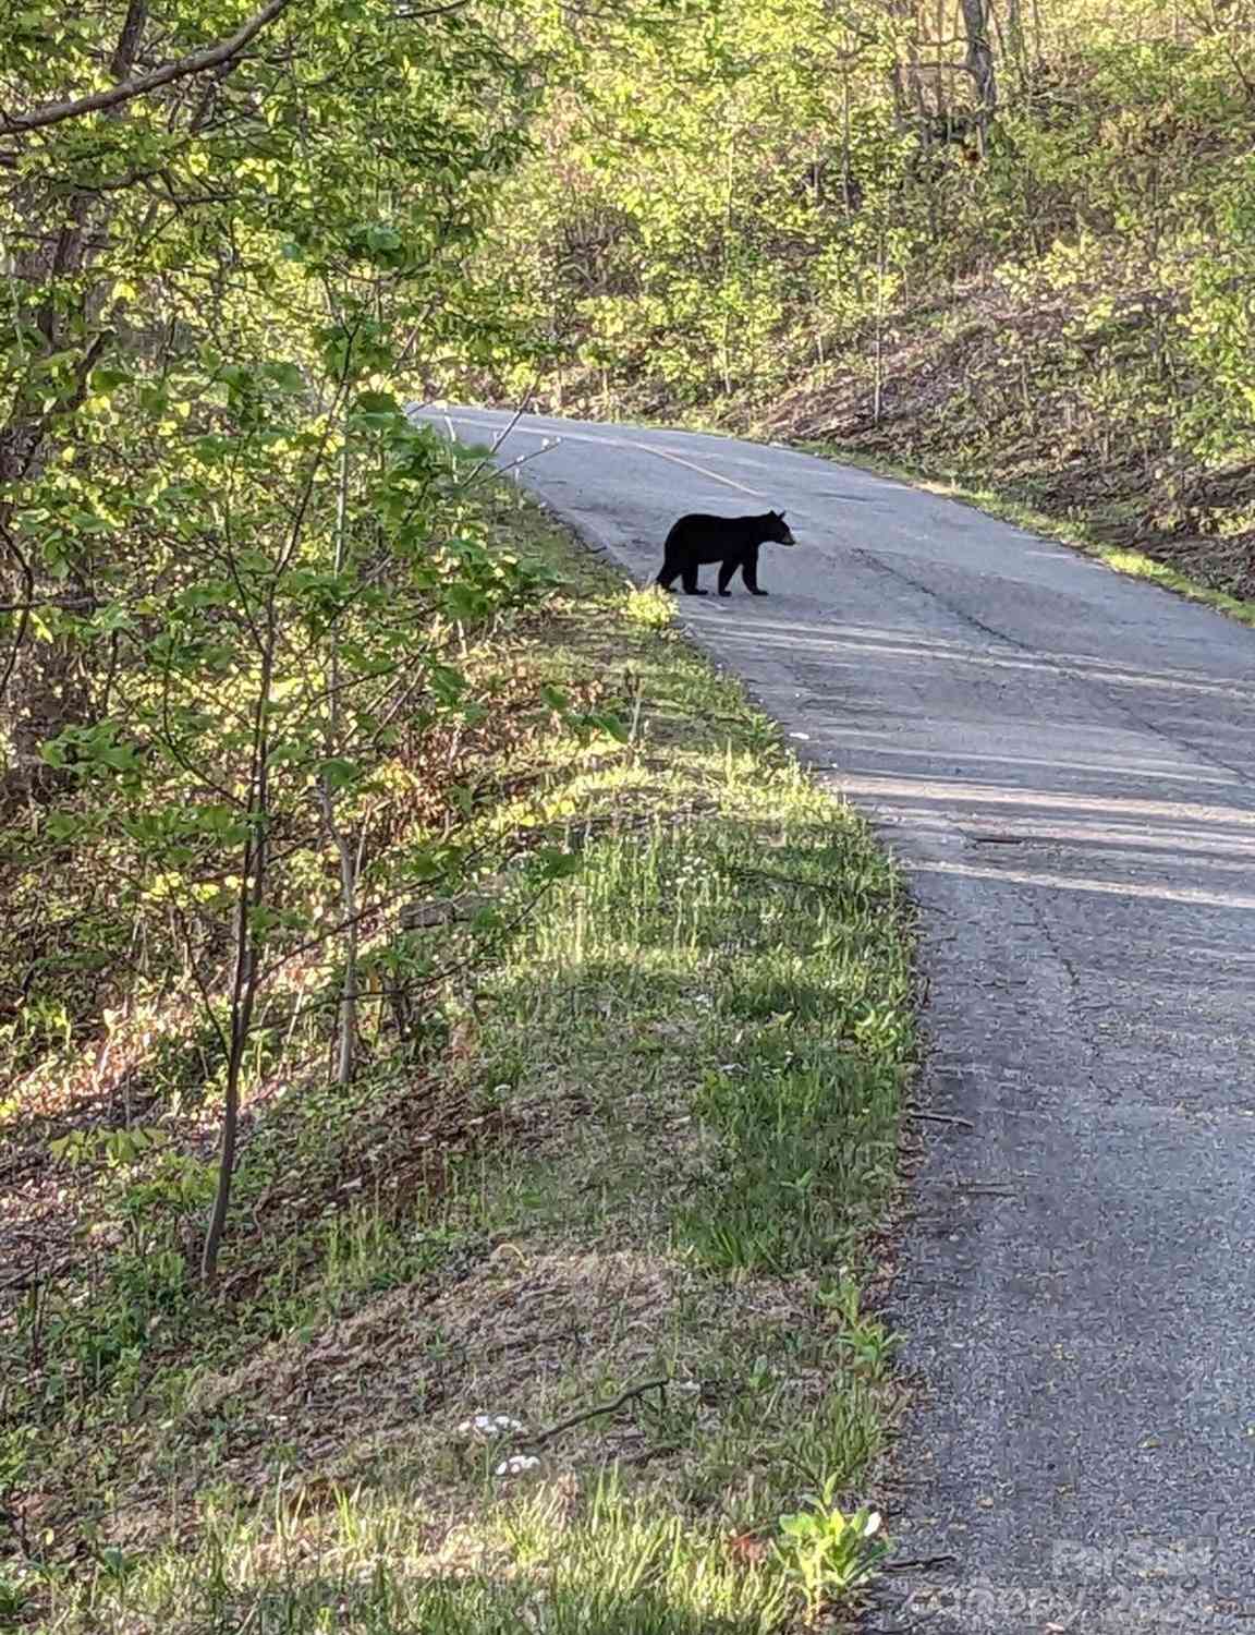
[(812, 443), (796, 440), (793, 446), (806, 451), (807, 455), (819, 455), (820, 458), (837, 459), (848, 466), (860, 466), (863, 471), (871, 471), (881, 477), (909, 482), (912, 487), (927, 489), (930, 494), (941, 494), (945, 499), (958, 500), (961, 505), (971, 505), (974, 510), (984, 512), (987, 517), (997, 517), (1002, 522), (1013, 523), (1016, 528), (1026, 528), (1031, 533), (1044, 535), (1049, 540), (1057, 540), (1061, 544), (1069, 544), (1077, 551), (1083, 551), (1085, 556), (1092, 556), (1096, 561), (1105, 562), (1118, 574), (1128, 574), (1131, 579), (1149, 579), (1154, 584), (1162, 585), (1165, 590), (1172, 590), (1178, 597), (1185, 597), (1188, 602), (1199, 602), (1204, 607), (1214, 608), (1217, 613), (1227, 613), (1229, 618), (1235, 618), (1240, 625), (1255, 626), (1255, 602), (1229, 595), (1226, 590), (1216, 590), (1211, 585), (1204, 585), (1198, 579), (1191, 579), (1190, 574), (1183, 574), (1170, 562), (1159, 561), (1142, 551), (1134, 551), (1119, 544), (1108, 544), (1098, 536), (1093, 525), (1085, 523), (1080, 518), (1056, 517), (1047, 512), (1036, 510), (1010, 490), (990, 489), (974, 482), (969, 484), (958, 476), (938, 477), (935, 473), (927, 471), (922, 466), (881, 459), (879, 456), (861, 453), (860, 450), (848, 448), (842, 443)]

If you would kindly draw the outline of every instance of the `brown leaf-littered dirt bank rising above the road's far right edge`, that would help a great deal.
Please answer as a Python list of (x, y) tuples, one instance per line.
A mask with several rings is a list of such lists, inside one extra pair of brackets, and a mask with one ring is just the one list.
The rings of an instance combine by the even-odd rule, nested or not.
[(1204, 384), (1172, 345), (1183, 301), (1129, 286), (1106, 307), (971, 283), (891, 322), (879, 370), (871, 335), (811, 370), (760, 430), (987, 489), (1255, 598), (1255, 461), (1181, 450)]

